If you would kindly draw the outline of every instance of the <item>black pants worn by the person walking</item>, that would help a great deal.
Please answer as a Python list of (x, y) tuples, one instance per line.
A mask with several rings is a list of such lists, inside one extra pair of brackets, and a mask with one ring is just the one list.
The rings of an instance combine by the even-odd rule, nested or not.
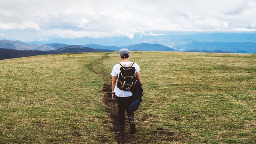
[(119, 126), (123, 125), (124, 126), (124, 112), (126, 110), (127, 116), (129, 118), (134, 119), (134, 113), (133, 111), (130, 112), (128, 110), (130, 104), (132, 103), (132, 97), (117, 97), (117, 104), (118, 104), (118, 121), (119, 121)]

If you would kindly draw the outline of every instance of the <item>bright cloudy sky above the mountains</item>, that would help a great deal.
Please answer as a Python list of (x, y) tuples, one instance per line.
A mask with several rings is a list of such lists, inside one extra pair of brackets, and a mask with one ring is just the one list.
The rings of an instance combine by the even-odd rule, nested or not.
[(23, 42), (256, 32), (256, 0), (0, 0), (0, 37)]

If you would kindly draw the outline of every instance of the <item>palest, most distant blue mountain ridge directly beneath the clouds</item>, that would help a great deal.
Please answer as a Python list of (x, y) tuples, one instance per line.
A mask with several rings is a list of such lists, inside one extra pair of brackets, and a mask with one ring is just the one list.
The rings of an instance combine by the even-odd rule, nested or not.
[(202, 33), (197, 35), (135, 35), (133, 38), (126, 36), (119, 37), (82, 37), (76, 39), (50, 39), (48, 41), (30, 42), (28, 44), (51, 44), (60, 43), (68, 45), (86, 45), (86, 44), (99, 44), (105, 46), (121, 46), (148, 43), (148, 44), (161, 44), (164, 46), (174, 46), (180, 44), (186, 44), (191, 41), (198, 42), (256, 42), (256, 33), (244, 34), (244, 33)]

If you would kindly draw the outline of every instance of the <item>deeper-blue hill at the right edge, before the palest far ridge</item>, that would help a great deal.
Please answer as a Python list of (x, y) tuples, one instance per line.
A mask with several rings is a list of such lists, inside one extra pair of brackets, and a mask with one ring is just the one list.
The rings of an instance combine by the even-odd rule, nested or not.
[(225, 43), (225, 42), (196, 42), (175, 45), (172, 48), (186, 52), (232, 52), (232, 53), (256, 53), (256, 43)]

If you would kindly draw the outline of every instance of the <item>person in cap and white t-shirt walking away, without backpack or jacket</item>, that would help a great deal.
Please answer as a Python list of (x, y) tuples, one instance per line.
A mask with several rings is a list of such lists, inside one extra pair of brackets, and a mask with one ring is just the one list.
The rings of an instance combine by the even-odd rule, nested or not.
[[(121, 62), (120, 64), (129, 67), (132, 62), (129, 61), (130, 53), (128, 49), (121, 49), (119, 51)], [(132, 102), (132, 92), (121, 90), (117, 87), (117, 78), (120, 73), (120, 64), (116, 64), (111, 72), (112, 76), (112, 99), (117, 100), (118, 104), (118, 122), (120, 131), (117, 133), (118, 135), (124, 135), (124, 120), (125, 120), (125, 110), (128, 116), (129, 125), (130, 125), (130, 134), (134, 134), (136, 132), (135, 123), (134, 123), (134, 112), (129, 111), (128, 107)], [(137, 81), (142, 84), (141, 76), (140, 76), (140, 67), (138, 64), (134, 63), (132, 67), (135, 68), (135, 76)]]

